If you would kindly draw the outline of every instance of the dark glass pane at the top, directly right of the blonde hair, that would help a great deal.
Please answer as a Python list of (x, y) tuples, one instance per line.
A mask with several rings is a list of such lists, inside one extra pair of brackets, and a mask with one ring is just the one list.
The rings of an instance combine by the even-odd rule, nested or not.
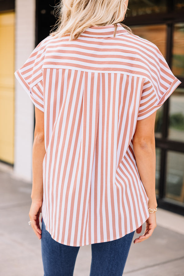
[(129, 0), (127, 15), (139, 16), (167, 12), (167, 0)]

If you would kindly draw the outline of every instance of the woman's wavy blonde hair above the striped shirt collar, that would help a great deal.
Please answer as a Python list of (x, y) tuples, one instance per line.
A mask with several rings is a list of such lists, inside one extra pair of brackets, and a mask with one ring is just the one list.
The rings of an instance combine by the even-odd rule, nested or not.
[(58, 21), (50, 35), (62, 37), (70, 35), (69, 41), (76, 40), (90, 26), (115, 25), (120, 23), (129, 33), (132, 30), (122, 24), (126, 12), (126, 0), (61, 0)]

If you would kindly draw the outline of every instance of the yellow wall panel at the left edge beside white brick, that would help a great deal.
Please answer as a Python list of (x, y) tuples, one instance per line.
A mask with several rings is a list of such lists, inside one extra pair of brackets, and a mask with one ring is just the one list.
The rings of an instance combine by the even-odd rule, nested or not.
[(14, 140), (14, 20), (0, 14), (0, 160), (13, 164)]

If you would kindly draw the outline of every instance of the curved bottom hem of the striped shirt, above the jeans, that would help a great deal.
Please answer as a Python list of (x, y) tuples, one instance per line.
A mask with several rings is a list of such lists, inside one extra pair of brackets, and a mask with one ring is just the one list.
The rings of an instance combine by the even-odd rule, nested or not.
[(49, 232), (49, 234), (51, 235), (52, 239), (55, 240), (56, 242), (59, 242), (59, 243), (62, 243), (62, 244), (64, 244), (64, 245), (68, 245), (68, 246), (75, 246), (75, 247), (78, 247), (78, 246), (84, 246), (84, 245), (89, 245), (89, 244), (94, 244), (94, 243), (103, 243), (103, 242), (108, 242), (108, 241), (113, 241), (113, 240), (120, 239), (120, 238), (124, 237), (125, 235), (130, 234), (131, 232), (135, 231), (137, 228), (139, 228), (142, 224), (144, 224), (144, 222), (146, 222), (146, 220), (148, 219), (148, 217), (149, 217), (149, 214), (148, 214), (147, 217), (145, 217), (144, 220), (141, 221), (140, 225), (139, 225), (139, 224), (136, 225), (136, 227), (132, 228), (132, 229), (130, 230), (130, 232), (126, 232), (124, 235), (121, 235), (121, 236), (119, 236), (119, 237), (113, 237), (113, 239), (97, 240), (97, 241), (94, 241), (93, 243), (92, 243), (92, 242), (88, 242), (88, 243), (79, 244), (79, 245), (77, 245), (77, 244), (71, 245), (70, 243), (65, 243), (65, 242), (62, 242), (62, 241), (59, 242), (59, 239), (56, 239), (54, 236), (51, 235), (51, 233), (48, 231), (46, 225), (45, 225), (45, 229)]

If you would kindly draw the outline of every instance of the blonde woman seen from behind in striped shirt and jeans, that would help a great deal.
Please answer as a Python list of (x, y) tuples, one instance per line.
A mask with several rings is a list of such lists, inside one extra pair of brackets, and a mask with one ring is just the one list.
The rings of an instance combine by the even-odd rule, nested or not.
[[(68, 0), (17, 79), (35, 105), (30, 221), (44, 275), (122, 275), (134, 232), (156, 227), (156, 110), (180, 84), (159, 49), (123, 24), (128, 1)], [(40, 229), (39, 215), (42, 212)]]

